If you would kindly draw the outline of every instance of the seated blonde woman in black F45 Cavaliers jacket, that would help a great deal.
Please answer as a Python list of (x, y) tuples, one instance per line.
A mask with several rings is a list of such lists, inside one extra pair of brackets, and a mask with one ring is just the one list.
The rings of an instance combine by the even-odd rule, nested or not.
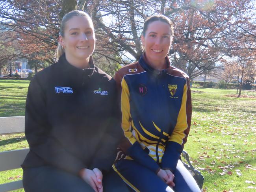
[(123, 191), (121, 179), (109, 172), (121, 132), (115, 81), (94, 65), (94, 49), (89, 15), (67, 13), (58, 61), (38, 72), (28, 88), (25, 191)]

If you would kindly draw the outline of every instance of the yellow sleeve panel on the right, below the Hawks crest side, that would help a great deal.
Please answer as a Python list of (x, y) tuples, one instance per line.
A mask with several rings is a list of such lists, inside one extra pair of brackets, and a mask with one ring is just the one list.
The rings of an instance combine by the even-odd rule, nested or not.
[(177, 123), (174, 127), (173, 133), (169, 138), (169, 141), (177, 142), (182, 145), (183, 138), (186, 137), (184, 131), (187, 129), (187, 112), (186, 112), (186, 102), (187, 102), (187, 83), (184, 85), (182, 103), (180, 107), (180, 112), (178, 114)]

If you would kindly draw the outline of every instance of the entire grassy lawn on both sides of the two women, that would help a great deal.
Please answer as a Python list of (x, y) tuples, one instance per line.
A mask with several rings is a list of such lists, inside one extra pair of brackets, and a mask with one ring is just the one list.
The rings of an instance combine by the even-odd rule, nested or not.
[[(28, 83), (0, 80), (0, 116), (24, 115)], [(236, 90), (192, 89), (191, 131), (184, 150), (204, 175), (203, 191), (256, 192), (256, 99), (228, 94)], [(24, 134), (0, 136), (0, 151), (27, 146)], [(0, 172), (0, 183), (21, 176), (21, 170)]]

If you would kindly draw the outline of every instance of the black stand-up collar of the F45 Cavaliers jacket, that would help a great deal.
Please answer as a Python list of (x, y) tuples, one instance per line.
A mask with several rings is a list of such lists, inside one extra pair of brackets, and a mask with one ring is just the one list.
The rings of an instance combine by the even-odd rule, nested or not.
[(94, 71), (95, 71), (95, 65), (94, 65), (94, 62), (93, 62), (93, 57), (90, 56), (90, 59), (89, 59), (89, 67), (88, 68), (85, 68), (85, 69), (80, 69), (80, 68), (77, 68), (73, 65), (71, 65), (67, 59), (66, 59), (66, 56), (65, 56), (65, 53), (62, 54), (60, 57), (59, 57), (59, 62), (62, 64), (62, 65), (65, 65), (65, 68), (67, 68), (67, 70), (72, 70), (72, 71), (75, 71), (75, 72), (82, 72), (84, 74), (87, 74), (89, 77), (93, 75)]

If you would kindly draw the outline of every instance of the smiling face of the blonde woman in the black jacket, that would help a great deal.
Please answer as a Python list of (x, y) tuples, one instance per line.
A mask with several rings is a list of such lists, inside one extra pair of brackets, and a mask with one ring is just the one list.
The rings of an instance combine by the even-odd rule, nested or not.
[(87, 17), (72, 17), (67, 21), (64, 37), (60, 36), (59, 42), (71, 62), (88, 60), (95, 48), (92, 22)]

